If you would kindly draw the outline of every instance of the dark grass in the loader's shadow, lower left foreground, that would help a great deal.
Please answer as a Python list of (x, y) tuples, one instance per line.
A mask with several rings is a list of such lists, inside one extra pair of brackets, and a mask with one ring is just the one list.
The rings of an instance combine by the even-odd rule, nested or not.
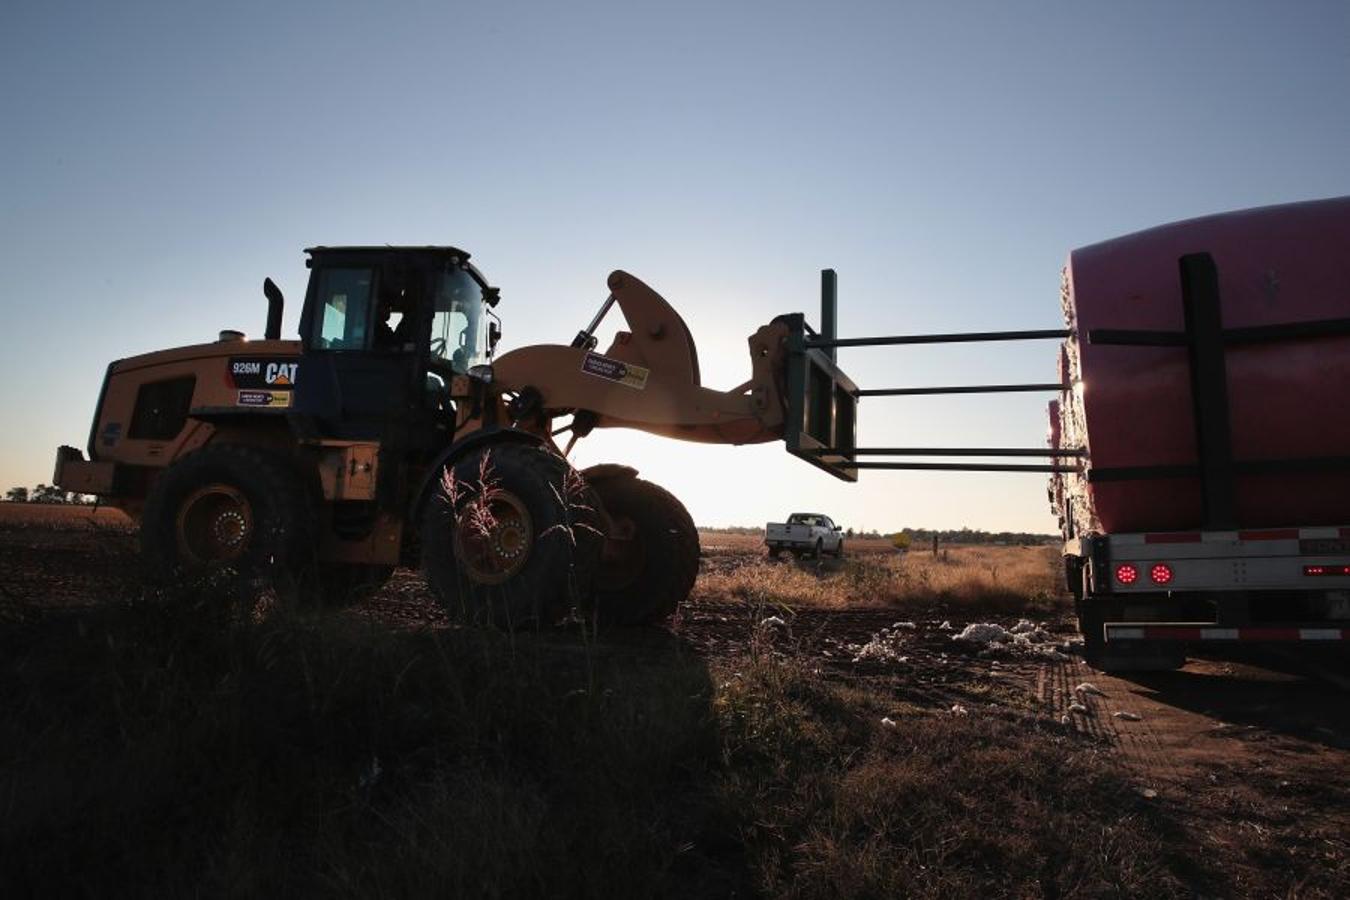
[[(0, 629), (0, 896), (725, 896), (701, 660), (221, 615)], [(698, 849), (691, 849), (697, 842)], [(725, 838), (724, 838), (725, 842)], [(711, 887), (707, 887), (711, 885)]]

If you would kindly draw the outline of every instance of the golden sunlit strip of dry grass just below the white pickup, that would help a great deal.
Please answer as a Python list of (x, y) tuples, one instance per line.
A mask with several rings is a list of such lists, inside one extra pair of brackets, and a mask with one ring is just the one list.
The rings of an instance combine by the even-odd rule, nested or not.
[(706, 560), (694, 588), (713, 602), (784, 606), (932, 606), (1045, 611), (1061, 603), (1060, 556), (1053, 546), (954, 546), (940, 551), (850, 553), (841, 563)]

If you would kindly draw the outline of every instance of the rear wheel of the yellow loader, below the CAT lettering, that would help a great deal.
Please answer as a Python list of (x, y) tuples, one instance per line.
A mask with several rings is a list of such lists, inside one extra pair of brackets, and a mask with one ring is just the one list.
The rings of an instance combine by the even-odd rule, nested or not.
[(309, 506), (294, 472), (256, 448), (220, 444), (155, 479), (140, 551), (158, 578), (215, 569), (275, 576), (301, 564), (308, 534)]

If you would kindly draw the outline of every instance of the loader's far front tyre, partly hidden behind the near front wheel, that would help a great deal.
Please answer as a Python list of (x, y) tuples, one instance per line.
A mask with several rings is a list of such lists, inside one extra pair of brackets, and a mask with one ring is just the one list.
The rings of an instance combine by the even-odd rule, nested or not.
[(664, 488), (640, 478), (595, 484), (610, 532), (595, 580), (599, 625), (648, 625), (675, 614), (698, 576), (698, 529)]

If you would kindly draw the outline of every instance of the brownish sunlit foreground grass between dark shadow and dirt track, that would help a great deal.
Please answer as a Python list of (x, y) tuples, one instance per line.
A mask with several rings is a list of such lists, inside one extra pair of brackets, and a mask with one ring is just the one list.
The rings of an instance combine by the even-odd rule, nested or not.
[[(1014, 711), (953, 716), (741, 660), (717, 694), (753, 884), (770, 897), (1231, 896), (1176, 811), (1099, 749)], [(882, 722), (890, 718), (894, 725)], [(1268, 888), (1296, 884), (1272, 872)], [(1308, 896), (1332, 896), (1319, 873)]]

